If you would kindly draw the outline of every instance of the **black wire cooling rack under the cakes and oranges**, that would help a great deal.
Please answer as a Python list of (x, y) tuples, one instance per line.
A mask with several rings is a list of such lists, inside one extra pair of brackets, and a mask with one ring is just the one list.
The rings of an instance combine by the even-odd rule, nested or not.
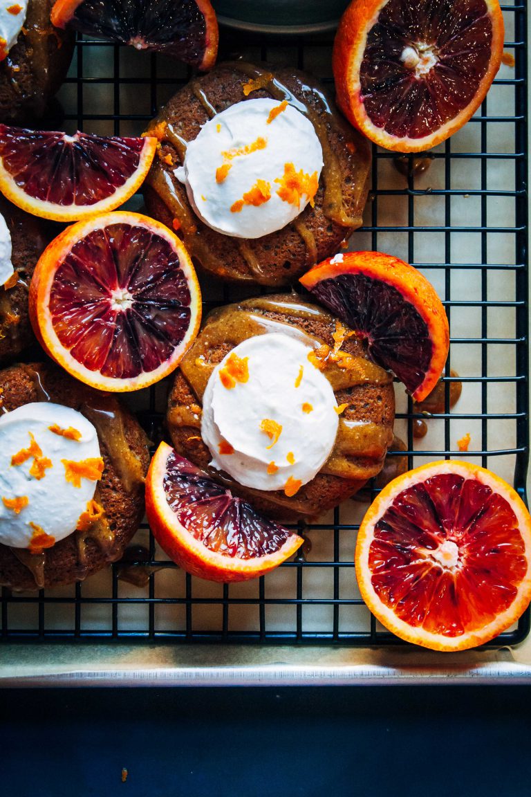
[[(413, 435), (421, 416), (396, 385), (396, 434), (408, 466), (436, 458), (479, 461), (525, 498), (528, 465), (528, 277), (526, 7), (503, 6), (506, 65), (470, 123), (429, 153), (429, 169), (408, 156), (373, 152), (365, 226), (351, 249), (380, 249), (416, 265), (442, 297), (451, 323), (444, 412)], [(221, 32), (221, 58), (297, 66), (332, 84), (332, 37), (257, 37)], [(512, 65), (511, 56), (514, 58)], [(103, 42), (77, 42), (60, 92), (64, 125), (103, 135), (138, 135), (189, 80), (185, 67)], [(426, 165), (424, 162), (422, 165)], [(142, 206), (140, 196), (132, 209)], [(241, 289), (208, 289), (206, 305), (236, 300)], [(246, 295), (249, 295), (248, 292)], [(451, 368), (459, 377), (451, 375)], [(450, 406), (451, 383), (463, 393)], [(157, 443), (169, 383), (129, 397)], [(457, 441), (470, 434), (470, 449)], [(371, 489), (371, 495), (376, 489)], [(266, 577), (219, 585), (195, 579), (166, 559), (143, 524), (128, 563), (73, 587), (38, 593), (2, 591), (2, 638), (223, 642), (404, 644), (388, 634), (361, 600), (353, 568), (358, 524), (367, 504), (348, 501), (316, 524), (300, 527), (303, 552)], [(126, 574), (127, 575), (127, 574)], [(529, 613), (492, 645), (521, 641)]]

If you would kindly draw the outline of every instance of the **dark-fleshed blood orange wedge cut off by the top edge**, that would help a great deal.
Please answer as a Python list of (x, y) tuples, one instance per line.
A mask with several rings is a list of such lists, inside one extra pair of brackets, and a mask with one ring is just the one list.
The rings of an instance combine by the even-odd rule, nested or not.
[(216, 62), (217, 18), (210, 0), (57, 0), (52, 22), (57, 28), (166, 53), (204, 71)]

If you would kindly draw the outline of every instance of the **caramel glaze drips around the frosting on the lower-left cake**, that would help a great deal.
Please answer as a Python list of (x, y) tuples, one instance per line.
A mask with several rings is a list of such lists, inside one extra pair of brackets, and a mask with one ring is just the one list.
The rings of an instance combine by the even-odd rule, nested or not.
[[(45, 374), (35, 365), (23, 365), (27, 375), (33, 381), (37, 392), (38, 401), (52, 401), (46, 389)], [(118, 402), (113, 396), (90, 395), (88, 400), (80, 407), (80, 412), (88, 418), (98, 433), (98, 438), (107, 450), (112, 465), (118, 473), (123, 485), (128, 492), (144, 481), (142, 465), (127, 445), (126, 431), (123, 425), (123, 415), (119, 411)], [(100, 485), (96, 486), (94, 501), (101, 505)], [(107, 561), (115, 559), (112, 551), (115, 545), (115, 530), (103, 514), (85, 532), (73, 532), (76, 540), (78, 579), (84, 579), (88, 570), (88, 540), (96, 543), (103, 552)], [(32, 554), (25, 548), (10, 548), (14, 556), (27, 567), (33, 575), (35, 585), (41, 589), (45, 584), (45, 567), (47, 551)]]

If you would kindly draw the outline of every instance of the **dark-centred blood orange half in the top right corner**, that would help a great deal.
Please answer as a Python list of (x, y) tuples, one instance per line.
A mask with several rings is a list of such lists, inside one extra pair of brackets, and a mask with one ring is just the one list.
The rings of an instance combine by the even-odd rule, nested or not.
[(503, 36), (498, 0), (353, 0), (334, 42), (338, 105), (381, 147), (434, 147), (485, 99)]

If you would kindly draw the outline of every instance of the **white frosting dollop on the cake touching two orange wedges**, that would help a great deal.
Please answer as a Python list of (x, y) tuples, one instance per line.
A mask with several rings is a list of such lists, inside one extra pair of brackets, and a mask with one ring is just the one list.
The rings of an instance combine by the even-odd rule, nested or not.
[[(214, 368), (201, 422), (213, 467), (241, 485), (288, 495), (314, 478), (334, 447), (338, 405), (310, 351), (294, 337), (266, 333), (244, 340)], [(247, 381), (238, 379), (239, 367)], [(231, 373), (234, 385), (226, 387)]]

